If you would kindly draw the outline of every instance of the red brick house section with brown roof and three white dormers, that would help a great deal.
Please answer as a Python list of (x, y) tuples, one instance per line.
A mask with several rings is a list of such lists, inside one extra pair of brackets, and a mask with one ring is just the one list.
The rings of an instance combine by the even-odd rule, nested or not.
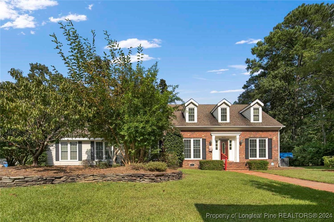
[(183, 167), (198, 167), (199, 160), (221, 160), (227, 156), (228, 169), (245, 168), (251, 159), (279, 165), (280, 129), (276, 119), (262, 111), (259, 100), (251, 104), (200, 105), (190, 99), (176, 111), (174, 124), (184, 137)]

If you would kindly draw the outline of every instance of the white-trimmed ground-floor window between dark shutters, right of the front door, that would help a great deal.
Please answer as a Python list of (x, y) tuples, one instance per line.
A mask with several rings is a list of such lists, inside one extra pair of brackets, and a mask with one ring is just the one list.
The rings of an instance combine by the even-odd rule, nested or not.
[(268, 138), (249, 139), (249, 159), (268, 159)]

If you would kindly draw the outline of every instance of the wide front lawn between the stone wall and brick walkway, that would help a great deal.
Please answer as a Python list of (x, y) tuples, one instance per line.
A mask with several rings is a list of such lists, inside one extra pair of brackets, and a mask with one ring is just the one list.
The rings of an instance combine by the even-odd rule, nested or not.
[(1, 189), (0, 220), (206, 221), (206, 213), (236, 213), (237, 218), (230, 216), (229, 221), (240, 221), (239, 213), (263, 213), (260, 221), (268, 221), (264, 213), (334, 216), (334, 193), (237, 172), (183, 172), (182, 180), (155, 184), (99, 182)]

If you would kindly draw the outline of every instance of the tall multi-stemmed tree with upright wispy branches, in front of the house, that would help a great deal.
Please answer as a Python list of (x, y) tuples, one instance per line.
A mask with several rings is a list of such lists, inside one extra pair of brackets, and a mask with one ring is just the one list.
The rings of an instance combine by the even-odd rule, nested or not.
[(175, 93), (177, 86), (159, 86), (158, 65), (142, 66), (141, 46), (135, 55), (131, 48), (124, 52), (105, 31), (107, 47), (100, 56), (94, 30), (89, 41), (79, 36), (70, 20), (59, 24), (69, 50), (65, 53), (53, 34), (55, 49), (68, 68), (68, 76), (80, 84), (81, 98), (95, 108), (88, 122), (91, 136), (112, 143), (126, 165), (144, 161), (152, 144), (171, 127), (178, 107), (169, 104), (181, 101)]

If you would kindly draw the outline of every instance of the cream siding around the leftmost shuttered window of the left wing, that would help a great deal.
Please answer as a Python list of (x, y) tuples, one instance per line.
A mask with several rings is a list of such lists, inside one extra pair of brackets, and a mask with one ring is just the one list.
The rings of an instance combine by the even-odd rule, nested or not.
[[(47, 165), (81, 165), (81, 161), (56, 161), (55, 144), (53, 144), (50, 150), (46, 151), (46, 153), (47, 153)], [(91, 141), (87, 140), (82, 141), (82, 160), (84, 159), (91, 159)]]

